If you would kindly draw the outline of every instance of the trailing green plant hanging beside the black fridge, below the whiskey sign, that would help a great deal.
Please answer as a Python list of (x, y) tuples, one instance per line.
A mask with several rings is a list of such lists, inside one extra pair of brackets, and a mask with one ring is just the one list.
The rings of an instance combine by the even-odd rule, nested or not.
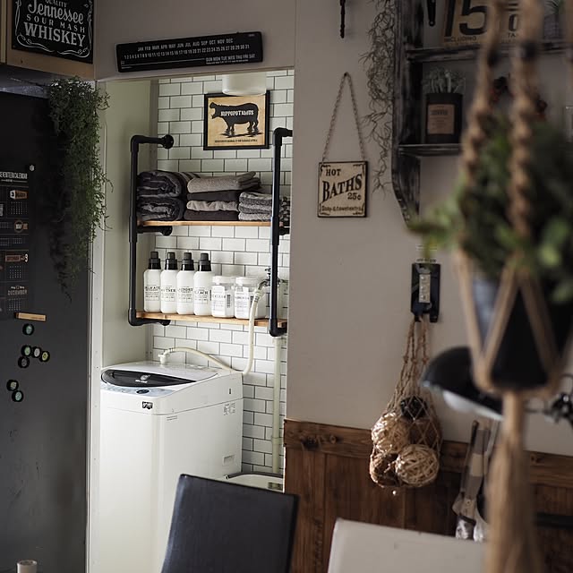
[(109, 183), (99, 158), (99, 112), (107, 94), (80, 78), (47, 86), (49, 115), (56, 134), (57, 173), (50, 252), (58, 280), (70, 294), (90, 261), (90, 244), (106, 214)]

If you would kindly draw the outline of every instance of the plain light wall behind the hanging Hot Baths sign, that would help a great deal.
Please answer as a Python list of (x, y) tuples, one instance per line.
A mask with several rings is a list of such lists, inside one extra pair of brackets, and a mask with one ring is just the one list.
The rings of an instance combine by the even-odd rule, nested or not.
[[(286, 415), (368, 428), (398, 381), (418, 240), (407, 234), (391, 192), (372, 193), (368, 218), (316, 217), (317, 169), (342, 73), (352, 74), (361, 115), (369, 105), (361, 56), (368, 50), (374, 3), (347, 5), (345, 39), (338, 37), (337, 5), (300, 0), (296, 8)], [(367, 149), (372, 173), (377, 150), (372, 141)], [(359, 158), (347, 94), (331, 150), (331, 160)], [(424, 159), (423, 199), (451, 189), (456, 173), (455, 159)], [(431, 329), (432, 353), (466, 341), (449, 258), (439, 259), (441, 313)], [(471, 419), (438, 406), (445, 438), (467, 440)], [(538, 415), (531, 426), (528, 447), (573, 454), (564, 423), (554, 427)]]

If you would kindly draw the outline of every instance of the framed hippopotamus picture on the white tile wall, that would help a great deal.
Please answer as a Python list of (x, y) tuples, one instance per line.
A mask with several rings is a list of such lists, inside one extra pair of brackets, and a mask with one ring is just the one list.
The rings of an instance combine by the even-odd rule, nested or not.
[(204, 150), (269, 148), (269, 91), (261, 96), (205, 94)]

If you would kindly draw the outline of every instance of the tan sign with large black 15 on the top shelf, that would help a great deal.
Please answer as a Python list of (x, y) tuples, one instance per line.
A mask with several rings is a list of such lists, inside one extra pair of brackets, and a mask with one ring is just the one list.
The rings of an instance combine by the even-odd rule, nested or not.
[[(488, 26), (486, 0), (447, 0), (442, 44), (447, 47), (481, 44)], [(501, 21), (501, 41), (519, 37), (519, 2), (509, 0)]]

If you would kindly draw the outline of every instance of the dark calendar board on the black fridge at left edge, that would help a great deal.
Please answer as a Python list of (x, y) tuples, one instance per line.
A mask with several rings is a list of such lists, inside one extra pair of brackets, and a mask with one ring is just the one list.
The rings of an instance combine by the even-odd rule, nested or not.
[(0, 320), (30, 305), (30, 178), (0, 167)]

